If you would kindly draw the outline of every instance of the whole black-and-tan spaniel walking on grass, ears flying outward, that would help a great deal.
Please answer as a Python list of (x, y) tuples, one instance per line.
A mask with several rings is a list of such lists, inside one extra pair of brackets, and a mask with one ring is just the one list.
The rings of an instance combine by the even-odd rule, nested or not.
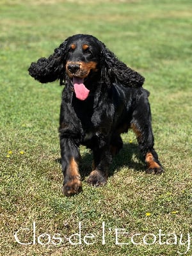
[(49, 58), (31, 63), (29, 74), (40, 83), (65, 84), (60, 109), (63, 195), (82, 191), (79, 145), (93, 152), (88, 184), (105, 185), (109, 164), (123, 147), (120, 134), (132, 128), (147, 173), (163, 173), (154, 150), (148, 91), (144, 77), (118, 60), (92, 35), (68, 37)]

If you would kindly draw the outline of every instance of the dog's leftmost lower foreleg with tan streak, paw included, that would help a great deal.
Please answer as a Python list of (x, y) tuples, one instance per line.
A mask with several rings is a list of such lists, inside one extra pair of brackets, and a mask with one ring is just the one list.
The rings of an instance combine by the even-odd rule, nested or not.
[(79, 147), (76, 140), (60, 138), (61, 166), (63, 172), (63, 195), (72, 196), (81, 192), (81, 176), (78, 163), (80, 159)]

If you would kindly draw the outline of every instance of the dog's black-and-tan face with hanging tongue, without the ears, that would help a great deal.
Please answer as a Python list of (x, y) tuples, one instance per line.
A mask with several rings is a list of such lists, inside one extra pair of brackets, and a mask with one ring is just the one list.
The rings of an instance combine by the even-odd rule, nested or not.
[(100, 72), (100, 44), (93, 36), (75, 35), (68, 38), (65, 52), (65, 74), (72, 81), (77, 99), (84, 100)]

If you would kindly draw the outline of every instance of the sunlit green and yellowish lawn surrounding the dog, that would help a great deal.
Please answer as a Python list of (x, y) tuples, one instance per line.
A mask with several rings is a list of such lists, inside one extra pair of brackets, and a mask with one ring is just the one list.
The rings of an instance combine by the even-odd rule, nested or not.
[[(190, 8), (189, 0), (0, 1), (0, 255), (191, 255)], [(81, 147), (83, 193), (61, 195), (57, 127), (62, 89), (58, 83), (33, 81), (27, 70), (76, 33), (97, 36), (145, 76), (164, 175), (145, 175), (129, 132), (107, 186), (86, 184), (92, 155)], [(34, 221), (35, 244), (17, 243), (13, 234), (20, 228), (29, 228), (19, 233), (20, 240), (33, 243)], [(68, 238), (79, 232), (79, 222), (82, 244), (72, 245)], [(125, 228), (129, 234), (118, 234), (118, 242), (129, 244), (115, 244), (115, 228)], [(164, 244), (159, 244), (159, 229), (166, 234)], [(40, 236), (44, 233), (51, 236), (47, 245), (40, 244), (49, 242)], [(54, 245), (58, 233), (62, 243)], [(141, 234), (134, 240), (140, 244), (131, 243), (134, 234)], [(152, 235), (146, 237), (151, 244), (143, 243), (147, 234), (154, 234), (156, 243)], [(179, 245), (180, 234), (185, 244)]]

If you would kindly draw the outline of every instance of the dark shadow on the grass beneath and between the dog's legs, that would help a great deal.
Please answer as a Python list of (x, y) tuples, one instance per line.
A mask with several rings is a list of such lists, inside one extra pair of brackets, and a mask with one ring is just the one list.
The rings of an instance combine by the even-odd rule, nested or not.
[[(135, 157), (134, 157), (135, 156)], [(135, 158), (135, 159), (134, 159)], [(61, 158), (55, 160), (56, 163), (61, 164)], [(81, 163), (79, 164), (79, 170), (81, 173), (81, 179), (84, 180), (92, 171), (92, 152), (83, 154)], [(140, 150), (137, 144), (124, 143), (124, 147), (113, 158), (111, 165), (109, 166), (108, 177), (112, 176), (116, 170), (122, 167), (134, 169), (135, 172), (144, 172), (145, 166), (143, 164), (143, 157), (140, 154)]]

